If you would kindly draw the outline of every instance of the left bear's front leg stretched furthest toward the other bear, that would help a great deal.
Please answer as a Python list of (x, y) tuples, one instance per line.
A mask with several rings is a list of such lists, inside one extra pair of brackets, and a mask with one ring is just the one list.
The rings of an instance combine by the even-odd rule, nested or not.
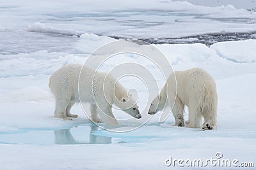
[(102, 104), (101, 106), (98, 106), (97, 112), (99, 113), (100, 118), (102, 119), (102, 122), (108, 124), (108, 125), (118, 125), (118, 122), (115, 118), (115, 116), (112, 113), (111, 106), (107, 104)]

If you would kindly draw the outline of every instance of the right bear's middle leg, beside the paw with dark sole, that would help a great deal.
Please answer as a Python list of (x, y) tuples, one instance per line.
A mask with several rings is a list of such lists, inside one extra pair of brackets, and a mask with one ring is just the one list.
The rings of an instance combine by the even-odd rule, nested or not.
[(186, 125), (187, 127), (191, 127), (191, 128), (199, 128), (200, 127), (202, 115), (196, 105), (197, 104), (196, 104), (195, 100), (189, 101), (189, 106), (188, 106), (189, 120), (188, 120), (188, 122), (186, 122), (186, 123), (188, 123)]

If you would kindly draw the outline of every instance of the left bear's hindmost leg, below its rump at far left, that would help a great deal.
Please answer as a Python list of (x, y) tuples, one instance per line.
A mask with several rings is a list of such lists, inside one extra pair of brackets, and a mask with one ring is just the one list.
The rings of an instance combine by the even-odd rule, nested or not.
[(56, 99), (54, 117), (63, 118), (65, 120), (72, 120), (72, 118), (66, 117), (66, 110), (68, 107), (68, 101), (63, 99)]

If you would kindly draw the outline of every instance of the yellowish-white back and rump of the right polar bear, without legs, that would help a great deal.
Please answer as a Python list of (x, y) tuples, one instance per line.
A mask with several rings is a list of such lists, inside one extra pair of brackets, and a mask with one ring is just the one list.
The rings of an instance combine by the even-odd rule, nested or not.
[[(175, 87), (177, 81), (177, 89)], [(217, 101), (216, 83), (212, 76), (204, 69), (193, 68), (186, 71), (175, 71), (168, 78), (169, 95), (175, 95), (186, 106), (189, 106), (189, 100), (196, 103), (202, 103), (205, 99)]]

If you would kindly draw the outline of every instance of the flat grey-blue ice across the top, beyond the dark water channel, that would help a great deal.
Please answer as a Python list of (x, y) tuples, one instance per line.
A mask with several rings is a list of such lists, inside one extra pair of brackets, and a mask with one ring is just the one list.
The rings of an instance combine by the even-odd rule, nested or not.
[(4, 21), (1, 25), (6, 29), (65, 35), (92, 32), (132, 38), (180, 38), (223, 31), (255, 31), (256, 20), (255, 12), (230, 5), (211, 8), (167, 0), (111, 0), (108, 3), (3, 0), (1, 4), (0, 19)]

